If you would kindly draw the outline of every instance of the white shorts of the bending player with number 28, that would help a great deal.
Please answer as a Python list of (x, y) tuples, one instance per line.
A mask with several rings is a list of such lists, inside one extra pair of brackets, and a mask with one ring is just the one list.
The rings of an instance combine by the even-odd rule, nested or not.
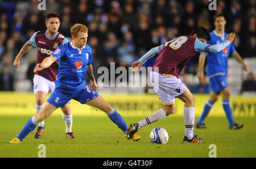
[(150, 72), (152, 86), (164, 105), (175, 103), (175, 98), (181, 95), (186, 86), (175, 76), (162, 75), (155, 71)]

